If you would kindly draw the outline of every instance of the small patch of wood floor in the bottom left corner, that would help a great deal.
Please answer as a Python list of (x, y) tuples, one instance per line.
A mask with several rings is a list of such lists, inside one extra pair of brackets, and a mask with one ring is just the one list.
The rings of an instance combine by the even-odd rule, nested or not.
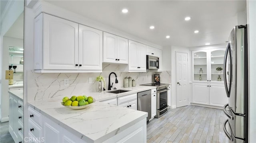
[(0, 123), (0, 143), (14, 143), (9, 133), (9, 122)]

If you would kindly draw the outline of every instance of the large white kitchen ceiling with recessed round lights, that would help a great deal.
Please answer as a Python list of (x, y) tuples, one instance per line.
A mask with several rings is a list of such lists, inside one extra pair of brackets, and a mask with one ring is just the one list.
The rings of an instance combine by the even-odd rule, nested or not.
[[(246, 10), (245, 0), (47, 2), (163, 47), (225, 43), (230, 31), (237, 25), (237, 13)], [(129, 12), (122, 14), (123, 8)], [(186, 16), (190, 16), (191, 20), (186, 22)], [(149, 29), (150, 25), (154, 25), (155, 29)], [(194, 30), (199, 30), (199, 33), (195, 34)], [(170, 39), (166, 39), (166, 35), (170, 35)]]

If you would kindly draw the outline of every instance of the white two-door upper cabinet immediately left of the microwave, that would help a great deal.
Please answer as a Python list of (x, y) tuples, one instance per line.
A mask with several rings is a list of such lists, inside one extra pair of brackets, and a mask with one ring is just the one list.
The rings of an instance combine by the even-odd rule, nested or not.
[(146, 72), (146, 45), (129, 40), (129, 71)]

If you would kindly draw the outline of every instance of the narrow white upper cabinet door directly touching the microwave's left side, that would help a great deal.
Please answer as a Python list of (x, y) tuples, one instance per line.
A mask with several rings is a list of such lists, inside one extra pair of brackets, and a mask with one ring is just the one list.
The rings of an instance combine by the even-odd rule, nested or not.
[(146, 45), (139, 43), (138, 47), (138, 67), (140, 71), (146, 71)]

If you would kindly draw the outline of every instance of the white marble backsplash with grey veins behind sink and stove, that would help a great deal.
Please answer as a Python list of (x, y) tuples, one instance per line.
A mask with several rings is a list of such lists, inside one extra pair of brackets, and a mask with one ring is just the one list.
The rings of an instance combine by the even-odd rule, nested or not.
[[(107, 90), (110, 72), (117, 74), (118, 83), (115, 83), (114, 74), (110, 77), (111, 83), (114, 82), (113, 88), (117, 89), (124, 86), (126, 76), (131, 76), (136, 80), (136, 85), (140, 85), (154, 82), (153, 74), (159, 73), (161, 83), (171, 83), (170, 71), (120, 72), (119, 65), (112, 64), (103, 64), (102, 73), (34, 73), (34, 71), (28, 71), (28, 101), (97, 92), (98, 82), (95, 79), (99, 75), (105, 78)], [(94, 83), (89, 83), (89, 78), (94, 79)], [(64, 86), (64, 79), (69, 80), (69, 86)]]

